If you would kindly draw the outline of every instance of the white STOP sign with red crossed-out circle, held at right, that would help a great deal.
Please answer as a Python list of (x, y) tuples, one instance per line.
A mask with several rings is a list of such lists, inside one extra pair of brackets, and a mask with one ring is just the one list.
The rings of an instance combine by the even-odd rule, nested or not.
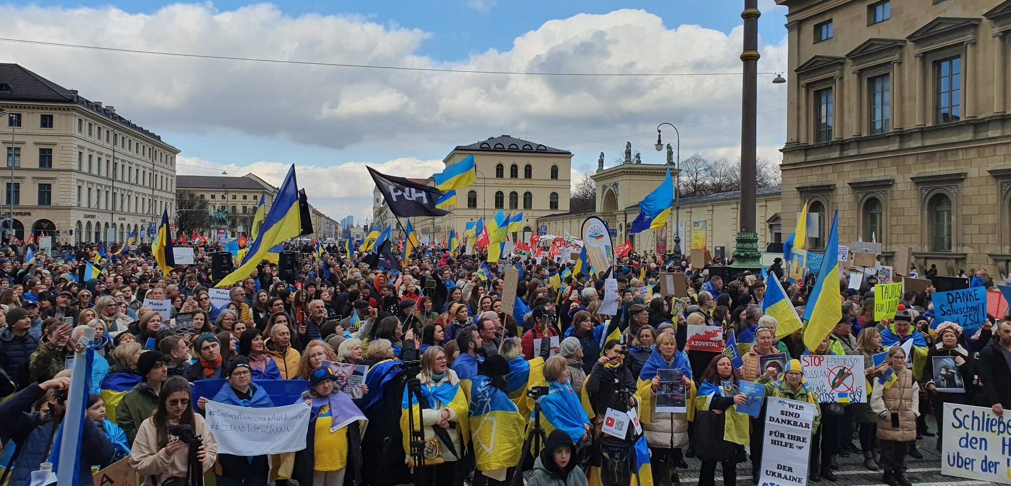
[(801, 366), (819, 403), (867, 401), (862, 356), (802, 355)]

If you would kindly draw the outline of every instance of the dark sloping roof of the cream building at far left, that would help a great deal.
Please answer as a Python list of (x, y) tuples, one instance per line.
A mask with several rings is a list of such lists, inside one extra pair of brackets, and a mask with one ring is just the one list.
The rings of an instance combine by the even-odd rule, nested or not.
[[(21, 65), (0, 63), (0, 84), (5, 84), (10, 87), (9, 91), (0, 91), (0, 101), (75, 103), (86, 110), (107, 118), (111, 122), (119, 123), (120, 125), (136, 130), (146, 136), (162, 141), (162, 137), (160, 135), (116, 114), (114, 108), (109, 109), (110, 107), (105, 107), (100, 102), (96, 103), (88, 100), (87, 98), (79, 95), (77, 90), (64, 88), (63, 86), (32, 73)], [(162, 143), (165, 142), (162, 141)], [(172, 148), (175, 149), (174, 147)], [(176, 149), (176, 152), (179, 152), (178, 149)]]

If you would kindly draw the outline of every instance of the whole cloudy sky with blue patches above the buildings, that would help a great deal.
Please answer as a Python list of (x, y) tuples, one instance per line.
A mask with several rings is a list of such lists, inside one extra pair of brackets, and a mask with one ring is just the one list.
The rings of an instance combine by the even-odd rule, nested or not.
[[(758, 70), (786, 71), (786, 9), (759, 2)], [(290, 164), (335, 219), (371, 213), (365, 166), (428, 177), (457, 144), (512, 134), (575, 155), (573, 177), (626, 141), (659, 163), (655, 127), (681, 157), (739, 154), (742, 2), (528, 0), (203, 3), (49, 1), (0, 5), (0, 37), (302, 63), (525, 73), (405, 71), (180, 58), (0, 41), (18, 63), (161, 134), (179, 174)], [(676, 76), (674, 76), (676, 75)], [(779, 161), (786, 85), (760, 75), (758, 152)], [(667, 139), (669, 138), (669, 139)], [(672, 133), (665, 141), (674, 141)]]

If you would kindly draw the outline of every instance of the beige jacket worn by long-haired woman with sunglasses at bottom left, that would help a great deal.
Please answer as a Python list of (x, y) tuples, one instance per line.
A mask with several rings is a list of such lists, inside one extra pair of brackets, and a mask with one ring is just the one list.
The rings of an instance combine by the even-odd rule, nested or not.
[[(217, 440), (207, 428), (207, 422), (199, 413), (193, 414), (193, 433), (202, 441), (206, 457), (201, 466), (203, 472), (210, 471), (217, 459)], [(168, 478), (185, 478), (188, 470), (189, 448), (184, 446), (169, 456), (164, 448), (158, 447), (158, 430), (151, 417), (141, 423), (136, 441), (129, 455), (129, 464), (141, 475), (143, 486), (162, 484)]]

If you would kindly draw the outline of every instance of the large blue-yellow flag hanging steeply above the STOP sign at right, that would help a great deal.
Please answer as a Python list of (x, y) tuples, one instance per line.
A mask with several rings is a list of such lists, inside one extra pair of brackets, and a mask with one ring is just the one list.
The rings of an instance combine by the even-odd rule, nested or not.
[(842, 319), (839, 304), (839, 210), (832, 216), (832, 228), (825, 244), (825, 258), (818, 272), (818, 282), (811, 290), (808, 305), (804, 309), (808, 328), (804, 329), (804, 345), (809, 350), (818, 349), (825, 336), (832, 332), (835, 324)]

